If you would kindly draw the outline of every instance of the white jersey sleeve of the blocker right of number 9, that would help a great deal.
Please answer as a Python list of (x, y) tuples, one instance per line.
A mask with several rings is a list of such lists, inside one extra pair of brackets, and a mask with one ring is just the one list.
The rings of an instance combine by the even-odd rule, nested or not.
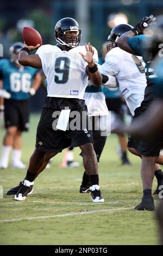
[(111, 51), (108, 52), (105, 57), (105, 62), (102, 65), (98, 65), (99, 72), (105, 76), (117, 75), (119, 72), (118, 61), (120, 61), (120, 56), (117, 58)]

